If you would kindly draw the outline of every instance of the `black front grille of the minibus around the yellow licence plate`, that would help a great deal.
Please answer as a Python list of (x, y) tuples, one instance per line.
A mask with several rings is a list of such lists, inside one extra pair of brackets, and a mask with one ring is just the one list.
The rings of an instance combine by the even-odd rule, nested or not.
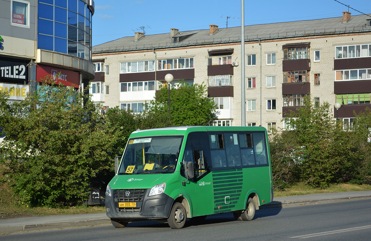
[[(140, 212), (147, 189), (115, 189), (114, 201), (117, 212)], [(119, 207), (119, 202), (135, 202), (136, 207)]]

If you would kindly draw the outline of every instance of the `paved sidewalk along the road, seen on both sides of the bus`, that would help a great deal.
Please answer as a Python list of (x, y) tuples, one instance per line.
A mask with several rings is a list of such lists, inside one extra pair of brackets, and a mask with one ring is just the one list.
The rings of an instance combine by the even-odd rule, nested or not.
[[(366, 198), (371, 198), (371, 191), (290, 196), (284, 198), (274, 198), (273, 202), (260, 206), (260, 208), (281, 208), (295, 205), (339, 202)], [(110, 223), (111, 220), (106, 216), (105, 213), (12, 218), (0, 221), (0, 234)]]

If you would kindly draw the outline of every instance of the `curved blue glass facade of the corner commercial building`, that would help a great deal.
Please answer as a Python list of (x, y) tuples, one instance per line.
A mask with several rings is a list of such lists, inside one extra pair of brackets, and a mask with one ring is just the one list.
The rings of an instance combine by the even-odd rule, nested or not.
[(92, 13), (82, 0), (39, 0), (37, 48), (91, 61)]

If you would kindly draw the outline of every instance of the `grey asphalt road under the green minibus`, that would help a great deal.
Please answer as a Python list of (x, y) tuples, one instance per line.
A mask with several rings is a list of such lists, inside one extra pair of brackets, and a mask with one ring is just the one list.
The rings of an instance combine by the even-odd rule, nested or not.
[(234, 221), (231, 213), (187, 221), (171, 229), (154, 221), (126, 228), (98, 225), (1, 235), (0, 240), (370, 240), (371, 199), (257, 210), (252, 221)]

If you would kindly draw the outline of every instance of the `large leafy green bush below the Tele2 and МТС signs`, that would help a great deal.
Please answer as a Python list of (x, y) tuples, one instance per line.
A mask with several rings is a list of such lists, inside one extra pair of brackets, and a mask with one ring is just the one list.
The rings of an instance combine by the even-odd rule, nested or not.
[(1, 98), (1, 163), (26, 205), (72, 205), (86, 199), (89, 179), (113, 168), (111, 139), (101, 116), (86, 96), (73, 88), (50, 88), (50, 78), (25, 100)]

